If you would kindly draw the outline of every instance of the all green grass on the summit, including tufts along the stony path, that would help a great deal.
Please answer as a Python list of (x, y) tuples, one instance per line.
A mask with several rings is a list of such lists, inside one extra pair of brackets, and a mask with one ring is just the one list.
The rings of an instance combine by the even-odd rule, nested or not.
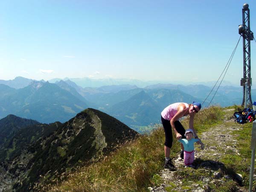
[[(223, 108), (214, 106), (201, 110), (198, 114), (200, 115), (195, 116), (195, 128), (200, 135), (211, 127), (220, 125), (225, 113)], [(182, 123), (185, 128), (188, 128), (188, 119), (183, 119)], [(62, 174), (58, 177), (58, 184), (56, 180), (52, 185), (38, 183), (36, 189), (51, 192), (147, 192), (148, 186), (158, 186), (162, 183), (158, 174), (163, 169), (165, 139), (162, 125), (155, 126), (151, 134), (141, 135), (137, 140), (125, 143), (98, 163), (81, 166), (75, 172)], [(245, 186), (248, 186), (250, 126), (252, 124), (244, 125), (241, 131), (234, 131), (234, 134), (238, 135), (234, 137), (239, 141), (238, 150), (241, 157), (227, 155), (220, 160), (230, 173), (235, 171), (245, 175)], [(179, 151), (180, 144), (174, 140), (171, 157), (177, 157)], [(212, 177), (212, 172), (205, 169), (188, 168), (175, 174), (177, 174), (176, 177), (183, 179), (181, 186), (183, 190), (190, 190), (188, 186), (191, 181), (203, 187), (202, 176)], [(234, 185), (236, 186), (236, 183), (233, 180), (227, 180), (224, 183), (216, 181), (210, 184), (209, 188), (212, 191), (232, 192), (236, 190)], [(175, 187), (175, 183), (170, 183), (166, 191), (174, 192)]]

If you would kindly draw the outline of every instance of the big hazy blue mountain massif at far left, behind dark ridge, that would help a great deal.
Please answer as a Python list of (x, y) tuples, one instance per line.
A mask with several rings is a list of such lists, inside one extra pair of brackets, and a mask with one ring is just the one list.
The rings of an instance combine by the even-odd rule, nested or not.
[(17, 90), (0, 84), (0, 118), (14, 114), (44, 123), (65, 122), (88, 108), (73, 94), (49, 82), (32, 81)]

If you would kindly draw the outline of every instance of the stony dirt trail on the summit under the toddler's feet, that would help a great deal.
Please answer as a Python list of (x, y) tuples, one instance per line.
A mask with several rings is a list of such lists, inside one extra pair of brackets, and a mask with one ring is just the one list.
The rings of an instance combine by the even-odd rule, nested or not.
[[(163, 169), (160, 172), (160, 177), (163, 179), (163, 183), (158, 187), (149, 187), (151, 192), (210, 192), (209, 183), (224, 182), (226, 179), (230, 179), (230, 175), (225, 175), (221, 170), (224, 170), (225, 165), (219, 161), (219, 159), (225, 155), (227, 150), (232, 150), (234, 154), (240, 155), (236, 149), (237, 140), (230, 135), (235, 130), (242, 128), (240, 124), (234, 123), (233, 119), (230, 119), (233, 112), (227, 110), (227, 116), (224, 119), (222, 125), (212, 127), (201, 134), (200, 139), (205, 144), (205, 149), (201, 150), (200, 145), (195, 143), (195, 169), (202, 169), (206, 172), (210, 172), (211, 175), (202, 176), (200, 182), (204, 183), (203, 186), (194, 181), (189, 181), (189, 189), (182, 188), (182, 178), (175, 176), (175, 172), (170, 172), (168, 169)], [(224, 152), (223, 152), (224, 150)], [(178, 158), (178, 157), (177, 157)], [(177, 172), (181, 172), (184, 169), (183, 161), (173, 160), (173, 163), (178, 168)], [(193, 169), (192, 169), (193, 170)], [(237, 174), (237, 182), (241, 180), (241, 175)], [(237, 192), (247, 192), (248, 189), (239, 187)]]

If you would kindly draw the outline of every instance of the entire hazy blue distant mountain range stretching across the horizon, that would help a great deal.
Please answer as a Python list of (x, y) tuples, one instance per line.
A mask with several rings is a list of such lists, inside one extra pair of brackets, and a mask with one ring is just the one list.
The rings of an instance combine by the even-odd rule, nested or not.
[[(76, 80), (81, 84), (84, 79)], [(213, 94), (215, 96), (211, 105), (241, 105), (242, 100), (242, 87), (233, 86), (220, 86), (215, 93), (215, 90), (205, 85), (151, 84), (141, 88), (135, 84), (122, 84), (81, 87), (70, 79), (52, 81), (55, 82), (23, 77), (0, 80), (0, 119), (14, 114), (41, 123), (63, 123), (86, 108), (95, 108), (139, 131), (137, 128), (140, 126), (159, 122), (160, 112), (174, 102), (203, 103), (209, 96), (203, 103), (204, 108), (209, 105)], [(256, 90), (251, 90), (251, 94), (252, 98), (256, 96)]]

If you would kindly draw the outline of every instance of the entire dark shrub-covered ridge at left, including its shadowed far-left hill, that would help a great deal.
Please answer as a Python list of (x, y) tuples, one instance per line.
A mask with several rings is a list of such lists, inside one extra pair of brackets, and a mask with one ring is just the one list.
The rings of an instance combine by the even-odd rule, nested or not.
[(97, 161), (137, 135), (119, 120), (92, 108), (65, 123), (42, 124), (9, 115), (0, 119), (3, 129), (7, 131), (0, 144), (0, 191), (16, 192), (28, 192), (39, 180), (47, 183), (79, 163)]

